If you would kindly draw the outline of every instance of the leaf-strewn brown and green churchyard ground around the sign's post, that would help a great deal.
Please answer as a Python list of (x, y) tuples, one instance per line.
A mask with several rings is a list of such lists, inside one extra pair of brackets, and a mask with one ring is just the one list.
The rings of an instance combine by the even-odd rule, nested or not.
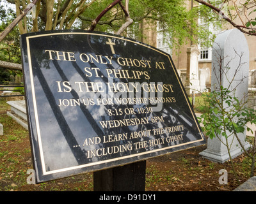
[[(93, 191), (93, 173), (85, 173), (42, 184), (28, 184), (27, 171), (33, 168), (28, 131), (0, 113), (4, 135), (0, 135), (0, 191)], [(207, 145), (173, 152), (147, 160), (145, 191), (232, 191), (238, 182), (230, 162), (213, 163), (199, 156)], [(248, 159), (234, 159), (239, 182), (249, 177)], [(220, 184), (219, 171), (228, 171), (228, 183)]]

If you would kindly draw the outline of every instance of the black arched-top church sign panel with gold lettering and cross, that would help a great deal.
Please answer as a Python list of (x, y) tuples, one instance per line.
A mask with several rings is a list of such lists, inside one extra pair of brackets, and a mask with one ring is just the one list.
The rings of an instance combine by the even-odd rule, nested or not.
[(170, 55), (108, 33), (21, 36), (36, 182), (205, 143)]

